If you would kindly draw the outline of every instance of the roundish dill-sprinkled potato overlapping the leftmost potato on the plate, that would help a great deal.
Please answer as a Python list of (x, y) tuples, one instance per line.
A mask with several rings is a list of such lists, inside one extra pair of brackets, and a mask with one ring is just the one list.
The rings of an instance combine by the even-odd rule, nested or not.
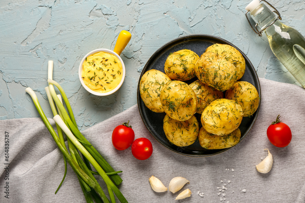
[(185, 82), (167, 82), (161, 89), (160, 100), (165, 113), (175, 120), (185, 121), (195, 114), (196, 94)]

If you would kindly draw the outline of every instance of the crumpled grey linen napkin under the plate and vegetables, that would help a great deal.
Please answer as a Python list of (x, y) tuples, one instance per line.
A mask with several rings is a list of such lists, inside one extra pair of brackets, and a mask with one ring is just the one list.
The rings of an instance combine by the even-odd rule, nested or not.
[[(82, 132), (115, 170), (123, 170), (119, 189), (129, 202), (304, 202), (305, 90), (267, 79), (260, 79), (260, 85), (261, 107), (253, 128), (237, 146), (215, 156), (194, 158), (166, 149), (146, 130), (137, 105)], [(266, 136), (268, 126), (278, 114), (292, 131), (292, 141), (285, 148), (273, 146)], [(54, 121), (49, 120), (54, 126)], [(132, 156), (130, 148), (118, 151), (113, 147), (113, 129), (128, 120), (135, 138), (146, 137), (152, 142), (153, 154), (149, 159), (140, 161)], [(40, 118), (0, 121), (0, 133), (0, 202), (85, 202), (70, 166), (66, 180), (54, 194), (64, 173), (63, 155)], [(5, 161), (5, 134), (9, 135), (8, 161)], [(265, 148), (272, 153), (274, 164), (269, 173), (262, 174), (255, 165), (267, 156)], [(5, 170), (7, 166), (9, 170)], [(152, 175), (167, 187), (173, 177), (187, 178), (190, 184), (181, 191), (189, 188), (191, 197), (175, 201), (181, 191), (175, 194), (152, 191), (148, 180)], [(5, 180), (6, 177), (9, 179)], [(104, 185), (102, 180), (99, 182)], [(224, 184), (227, 190), (218, 195), (217, 187)], [(5, 198), (7, 185), (9, 199)], [(197, 195), (198, 191), (204, 197)]]

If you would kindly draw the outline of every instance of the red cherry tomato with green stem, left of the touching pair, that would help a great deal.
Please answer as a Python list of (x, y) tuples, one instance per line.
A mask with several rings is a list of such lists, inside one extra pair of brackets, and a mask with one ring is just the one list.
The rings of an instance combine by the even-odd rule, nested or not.
[(128, 123), (117, 126), (112, 132), (112, 144), (117, 150), (127, 149), (135, 139), (135, 132)]

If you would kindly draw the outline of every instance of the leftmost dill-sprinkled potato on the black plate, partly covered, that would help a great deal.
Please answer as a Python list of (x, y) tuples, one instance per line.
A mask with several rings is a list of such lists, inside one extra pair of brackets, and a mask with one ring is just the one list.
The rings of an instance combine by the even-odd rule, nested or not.
[(140, 80), (140, 95), (147, 108), (157, 113), (164, 112), (160, 92), (168, 81), (170, 78), (161, 71), (151, 69), (144, 73)]

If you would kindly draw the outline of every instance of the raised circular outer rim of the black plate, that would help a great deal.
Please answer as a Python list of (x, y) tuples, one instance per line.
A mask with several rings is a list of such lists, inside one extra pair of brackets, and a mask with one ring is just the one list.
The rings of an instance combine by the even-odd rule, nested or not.
[[(163, 46), (161, 46), (159, 49), (157, 49), (152, 55), (151, 57), (148, 59), (148, 61), (146, 62), (145, 66), (143, 67), (142, 71), (141, 71), (141, 74), (140, 74), (140, 77), (139, 77), (139, 80), (138, 80), (138, 88), (137, 88), (137, 104), (138, 104), (138, 110), (139, 110), (139, 114), (141, 116), (141, 120), (142, 122), (144, 123), (145, 125), (145, 128), (149, 131), (149, 133), (152, 135), (153, 138), (155, 138), (155, 140), (157, 142), (159, 142), (159, 144), (161, 144), (163, 147), (169, 149), (170, 151), (172, 152), (175, 152), (177, 154), (180, 154), (180, 155), (184, 155), (184, 156), (189, 156), (189, 157), (208, 157), (208, 156), (214, 156), (214, 155), (217, 155), (217, 154), (220, 154), (222, 152), (225, 152), (229, 149), (232, 149), (234, 146), (238, 145), (245, 137), (246, 135), (249, 133), (249, 131), (252, 129), (256, 119), (257, 119), (257, 116), (258, 116), (258, 113), (259, 113), (259, 110), (260, 110), (260, 103), (261, 103), (261, 99), (260, 99), (260, 103), (258, 105), (258, 108), (255, 112), (255, 115), (254, 115), (254, 118), (253, 118), (253, 122), (250, 124), (250, 127), (247, 129), (247, 131), (244, 133), (244, 136), (241, 137), (241, 139), (239, 140), (239, 143), (237, 143), (236, 145), (234, 145), (233, 147), (230, 147), (230, 148), (225, 148), (225, 149), (222, 149), (218, 152), (215, 152), (213, 154), (208, 154), (208, 155), (192, 155), (192, 154), (187, 154), (187, 153), (183, 153), (183, 152), (178, 152), (177, 150), (174, 150), (174, 149), (171, 149), (169, 147), (167, 147), (166, 145), (163, 145), (163, 142), (161, 142), (158, 138), (156, 138), (152, 131), (148, 128), (148, 124), (146, 123), (145, 119), (143, 119), (144, 115), (143, 115), (143, 112), (142, 112), (142, 109), (140, 108), (140, 105), (139, 105), (139, 102), (140, 102), (140, 99), (141, 99), (141, 96), (140, 96), (140, 80), (142, 78), (142, 76), (144, 75), (145, 72), (143, 72), (148, 64), (151, 63), (151, 61), (153, 61), (153, 59), (156, 57), (156, 55), (162, 51), (163, 49), (166, 49), (166, 47), (169, 47), (169, 46), (172, 46), (174, 43), (176, 43), (177, 41), (180, 41), (181, 39), (188, 39), (188, 38), (194, 38), (194, 40), (196, 40), (196, 38), (209, 38), (211, 40), (219, 40), (219, 41), (223, 41), (224, 43), (223, 44), (228, 44), (232, 47), (235, 47), (241, 54), (242, 56), (245, 58), (245, 61), (247, 61), (249, 63), (249, 68), (252, 69), (252, 72), (254, 73), (253, 75), (253, 79), (255, 82), (257, 82), (257, 85), (258, 85), (258, 94), (261, 98), (261, 87), (260, 87), (260, 81), (259, 81), (259, 77), (257, 75), (257, 72), (253, 66), (253, 64), (251, 63), (251, 61), (249, 60), (249, 58), (246, 56), (246, 54), (244, 54), (238, 47), (236, 47), (234, 44), (232, 44), (231, 42), (227, 41), (227, 40), (224, 40), (220, 37), (217, 37), (217, 36), (213, 36), (213, 35), (207, 35), (207, 34), (190, 34), (190, 35), (185, 35), (185, 36), (181, 36), (181, 37), (178, 37), (178, 38), (175, 38), (169, 42), (167, 42), (166, 44), (164, 44)], [(178, 147), (178, 146), (177, 146)]]

